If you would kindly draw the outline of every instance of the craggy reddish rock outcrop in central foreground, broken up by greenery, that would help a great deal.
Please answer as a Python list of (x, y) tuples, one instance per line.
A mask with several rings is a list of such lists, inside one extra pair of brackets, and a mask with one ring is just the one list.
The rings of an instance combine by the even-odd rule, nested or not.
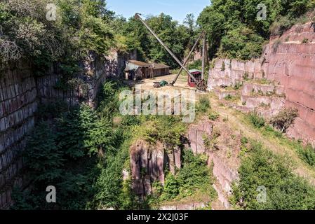
[[(225, 209), (229, 209), (228, 197), (231, 195), (232, 183), (239, 178), (237, 169), (239, 167), (239, 142), (241, 137), (237, 136), (231, 142), (227, 141), (232, 135), (232, 130), (225, 127), (225, 123), (218, 123), (219, 129), (224, 129), (220, 137), (218, 151), (209, 151), (205, 145), (205, 139), (213, 140), (213, 123), (208, 120), (202, 120), (199, 123), (189, 126), (188, 140), (186, 148), (191, 148), (195, 155), (206, 154), (209, 157), (208, 165), (213, 167), (213, 176), (217, 180), (213, 187), (217, 191), (220, 203)], [(224, 126), (224, 127), (223, 127)], [(228, 145), (235, 146), (234, 151), (230, 152)], [(232, 153), (227, 158), (227, 152)], [(164, 170), (168, 165), (171, 172), (181, 168), (180, 148), (173, 151), (166, 151), (166, 147), (161, 143), (155, 146), (149, 146), (145, 141), (136, 141), (130, 148), (130, 168), (131, 179), (133, 183), (133, 193), (140, 197), (152, 193), (152, 184), (154, 181), (164, 183)], [(204, 207), (203, 203), (177, 204), (174, 206), (161, 207), (161, 209), (196, 209)]]

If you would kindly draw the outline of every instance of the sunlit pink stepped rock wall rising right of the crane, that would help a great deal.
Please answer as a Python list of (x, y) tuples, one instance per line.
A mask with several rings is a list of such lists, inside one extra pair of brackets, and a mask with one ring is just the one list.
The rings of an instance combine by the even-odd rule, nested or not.
[[(282, 106), (291, 106), (300, 111), (288, 135), (315, 144), (315, 27), (308, 22), (295, 25), (282, 36), (272, 36), (264, 48), (261, 59), (241, 62), (235, 59), (217, 59), (209, 71), (208, 89), (234, 85), (248, 76), (251, 79), (267, 78), (272, 85), (245, 85), (242, 111), (257, 108), (257, 104), (267, 104), (269, 111), (263, 116), (273, 116)], [(246, 77), (245, 77), (246, 78)], [(255, 92), (275, 91), (283, 99), (250, 97)], [(285, 99), (284, 99), (285, 97)]]

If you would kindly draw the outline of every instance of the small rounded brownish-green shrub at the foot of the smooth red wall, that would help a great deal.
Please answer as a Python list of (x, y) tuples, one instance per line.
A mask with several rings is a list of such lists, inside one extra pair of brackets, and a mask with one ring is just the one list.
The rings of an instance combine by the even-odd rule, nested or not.
[(297, 109), (283, 109), (283, 111), (272, 118), (271, 123), (274, 125), (274, 127), (278, 128), (284, 133), (286, 130), (288, 130), (290, 125), (294, 123), (297, 116), (299, 116), (299, 111)]

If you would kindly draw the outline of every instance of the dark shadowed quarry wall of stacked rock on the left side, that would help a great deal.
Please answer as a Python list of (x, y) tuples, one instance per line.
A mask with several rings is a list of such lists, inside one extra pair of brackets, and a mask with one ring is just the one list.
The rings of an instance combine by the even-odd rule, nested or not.
[(18, 153), (25, 148), (25, 136), (36, 123), (34, 113), (38, 105), (60, 100), (69, 106), (82, 101), (93, 105), (100, 84), (119, 74), (119, 60), (116, 52), (106, 58), (91, 55), (82, 65), (86, 72), (77, 76), (88, 86), (85, 94), (80, 88), (66, 92), (56, 89), (60, 78), (56, 66), (45, 76), (36, 77), (28, 62), (0, 65), (0, 209), (11, 203), (12, 186), (22, 185)]

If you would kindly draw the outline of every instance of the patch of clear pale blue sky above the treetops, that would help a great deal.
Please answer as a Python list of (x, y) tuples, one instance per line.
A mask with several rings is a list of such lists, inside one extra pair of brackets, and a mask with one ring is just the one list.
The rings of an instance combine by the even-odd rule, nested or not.
[(203, 8), (209, 5), (210, 0), (107, 0), (107, 8), (125, 18), (130, 18), (135, 13), (144, 15), (166, 13), (179, 22), (182, 22), (189, 13), (194, 13), (195, 18), (198, 18)]

